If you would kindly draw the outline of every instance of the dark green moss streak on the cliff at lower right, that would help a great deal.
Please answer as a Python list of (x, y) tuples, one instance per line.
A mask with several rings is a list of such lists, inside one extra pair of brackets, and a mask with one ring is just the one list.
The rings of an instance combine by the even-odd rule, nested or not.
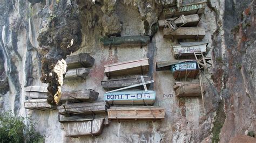
[(224, 121), (226, 119), (226, 115), (224, 112), (224, 103), (223, 100), (219, 103), (219, 108), (217, 110), (217, 115), (214, 117), (215, 121), (213, 123), (212, 127), (212, 142), (219, 142), (219, 134), (221, 131), (221, 128), (223, 127)]

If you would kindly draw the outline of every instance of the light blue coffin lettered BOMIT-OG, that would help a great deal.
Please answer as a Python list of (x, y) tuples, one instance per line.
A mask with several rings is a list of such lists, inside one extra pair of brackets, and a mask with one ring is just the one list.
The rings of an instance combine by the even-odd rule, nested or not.
[(155, 91), (119, 91), (104, 94), (104, 100), (109, 104), (152, 105), (156, 100)]

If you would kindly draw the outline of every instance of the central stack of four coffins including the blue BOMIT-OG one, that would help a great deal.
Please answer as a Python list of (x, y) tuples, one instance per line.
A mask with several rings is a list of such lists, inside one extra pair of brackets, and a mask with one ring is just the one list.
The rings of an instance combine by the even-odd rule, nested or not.
[[(149, 59), (119, 62), (104, 66), (104, 73), (107, 77), (145, 74), (148, 70)], [(104, 94), (104, 100), (110, 105), (114, 105), (107, 110), (109, 120), (164, 119), (164, 108), (149, 106), (153, 105), (156, 100), (156, 92), (151, 90), (148, 91), (146, 87), (146, 84), (152, 82), (153, 80), (151, 80), (150, 76), (135, 76), (131, 78), (102, 81), (103, 88), (107, 90), (114, 89), (112, 91), (107, 91), (106, 94)], [(145, 90), (127, 90), (142, 85)], [(122, 105), (126, 106), (124, 107)]]

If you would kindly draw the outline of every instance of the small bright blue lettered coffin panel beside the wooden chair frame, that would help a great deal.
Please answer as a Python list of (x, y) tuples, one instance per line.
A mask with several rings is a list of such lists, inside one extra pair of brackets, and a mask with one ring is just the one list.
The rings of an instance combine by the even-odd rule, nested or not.
[(186, 62), (177, 63), (171, 66), (171, 70), (173, 72), (176, 70), (184, 71), (184, 70), (196, 70), (196, 69), (198, 69), (196, 61), (186, 61)]

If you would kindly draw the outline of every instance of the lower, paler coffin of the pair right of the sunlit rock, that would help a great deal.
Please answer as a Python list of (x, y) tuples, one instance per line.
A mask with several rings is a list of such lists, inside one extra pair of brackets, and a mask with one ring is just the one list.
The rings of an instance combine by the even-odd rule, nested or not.
[(76, 69), (69, 69), (66, 72), (65, 79), (77, 79), (77, 78), (84, 78), (90, 73), (89, 68), (76, 68)]

